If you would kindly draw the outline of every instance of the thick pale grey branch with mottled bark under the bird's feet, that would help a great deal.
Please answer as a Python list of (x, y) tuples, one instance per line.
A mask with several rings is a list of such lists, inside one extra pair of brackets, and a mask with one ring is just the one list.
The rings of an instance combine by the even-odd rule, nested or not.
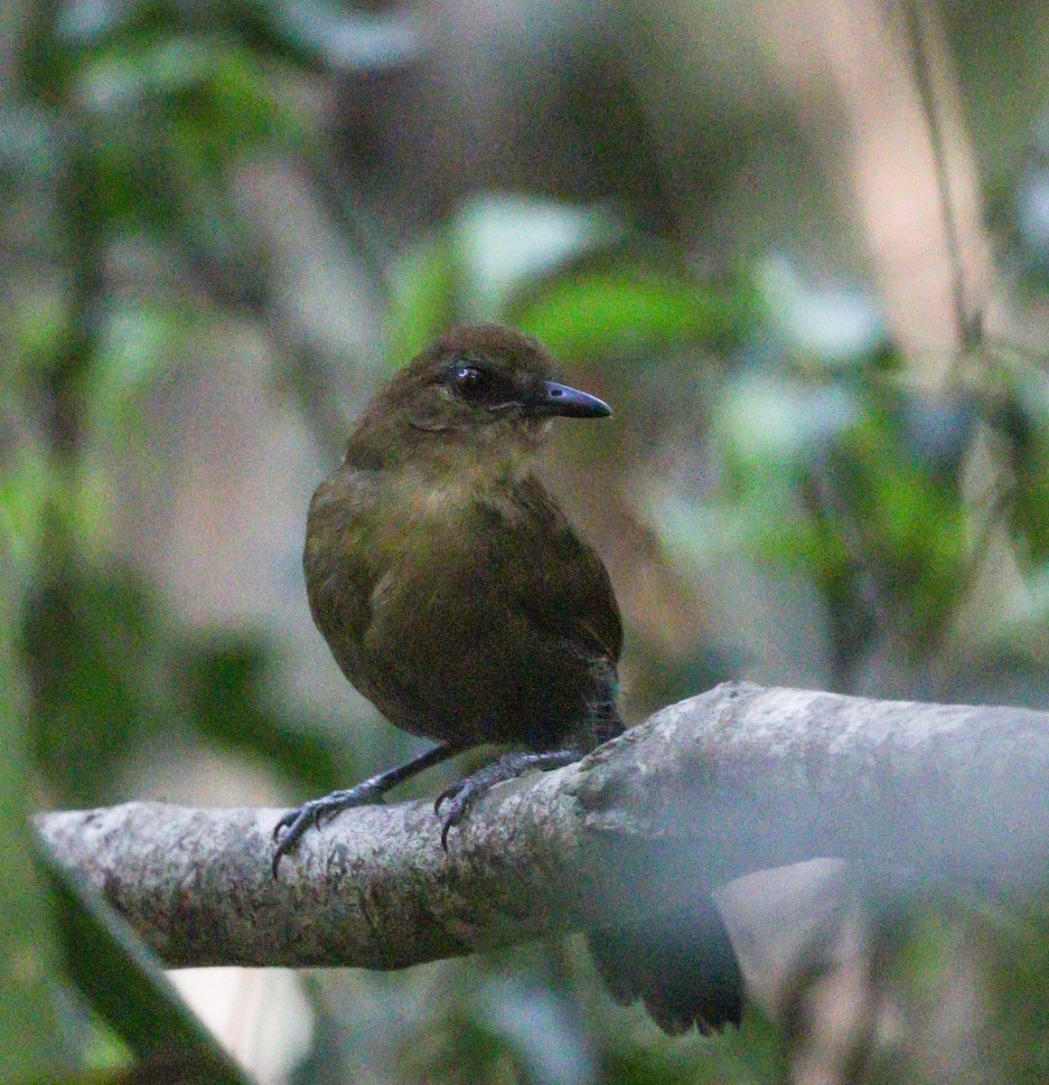
[[(401, 968), (687, 922), (734, 879), (819, 856), (879, 895), (1040, 883), (1049, 715), (728, 684), (494, 789), (448, 855), (430, 802), (370, 807), (308, 833), (274, 881), (280, 814), (131, 803), (38, 824), (169, 965)], [(717, 894), (730, 932), (746, 896)]]

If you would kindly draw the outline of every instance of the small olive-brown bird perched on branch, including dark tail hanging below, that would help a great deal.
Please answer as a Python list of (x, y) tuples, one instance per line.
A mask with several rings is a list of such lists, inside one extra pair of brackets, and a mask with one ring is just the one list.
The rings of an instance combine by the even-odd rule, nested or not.
[[(391, 724), (435, 744), (286, 813), (274, 877), (311, 827), (462, 751), (510, 748), (438, 796), (445, 851), (490, 788), (623, 732), (611, 580), (532, 471), (555, 419), (611, 408), (556, 378), (551, 353), (521, 332), (453, 328), (377, 391), (314, 493), (303, 551), (313, 620), (349, 681)], [(708, 969), (702, 946), (678, 942), (677, 958)], [(629, 945), (637, 952), (624, 968)], [(666, 1031), (739, 1021), (738, 984), (712, 998), (716, 984), (694, 982), (695, 969), (668, 970), (652, 931), (601, 928), (591, 947), (613, 995), (642, 997)], [(698, 999), (684, 993), (697, 984)]]

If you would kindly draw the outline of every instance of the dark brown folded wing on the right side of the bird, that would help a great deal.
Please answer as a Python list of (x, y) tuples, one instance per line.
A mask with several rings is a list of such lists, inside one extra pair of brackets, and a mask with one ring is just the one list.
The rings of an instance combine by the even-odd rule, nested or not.
[(514, 499), (521, 514), (510, 527), (526, 544), (515, 551), (528, 559), (507, 570), (516, 602), (541, 628), (614, 666), (623, 626), (601, 559), (536, 478), (529, 475), (518, 483)]

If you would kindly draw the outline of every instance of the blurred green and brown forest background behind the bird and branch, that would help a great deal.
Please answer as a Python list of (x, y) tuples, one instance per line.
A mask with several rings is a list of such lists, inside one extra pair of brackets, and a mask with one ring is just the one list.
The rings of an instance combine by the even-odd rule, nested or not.
[[(1041, 0), (0, 8), (3, 1046), (135, 1073), (26, 808), (289, 804), (417, 749), (300, 552), (456, 321), (614, 407), (541, 470), (630, 720), (729, 677), (1049, 709), (1047, 68)], [(666, 1039), (572, 939), (178, 982), (263, 1082), (1042, 1081), (1045, 910), (901, 911), (815, 1077), (757, 1010)]]

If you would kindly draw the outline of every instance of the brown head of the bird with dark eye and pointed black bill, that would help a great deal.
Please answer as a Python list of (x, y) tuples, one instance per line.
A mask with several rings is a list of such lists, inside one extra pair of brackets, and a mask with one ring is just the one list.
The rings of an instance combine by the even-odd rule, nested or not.
[(551, 420), (605, 418), (611, 408), (554, 380), (535, 340), (498, 324), (457, 328), (381, 388), (350, 442), (386, 463), (454, 467), (464, 458), (527, 459)]

